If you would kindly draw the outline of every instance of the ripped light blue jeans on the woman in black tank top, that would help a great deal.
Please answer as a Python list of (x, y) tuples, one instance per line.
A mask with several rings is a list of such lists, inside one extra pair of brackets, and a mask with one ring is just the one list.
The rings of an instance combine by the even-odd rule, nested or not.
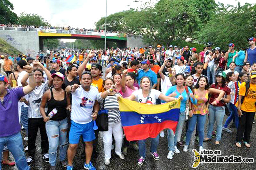
[(45, 123), (45, 129), (46, 129), (46, 133), (49, 141), (49, 163), (51, 166), (55, 166), (56, 158), (57, 158), (57, 148), (59, 144), (60, 144), (60, 161), (64, 160), (67, 155), (67, 149), (68, 149), (67, 118), (61, 121), (49, 120)]

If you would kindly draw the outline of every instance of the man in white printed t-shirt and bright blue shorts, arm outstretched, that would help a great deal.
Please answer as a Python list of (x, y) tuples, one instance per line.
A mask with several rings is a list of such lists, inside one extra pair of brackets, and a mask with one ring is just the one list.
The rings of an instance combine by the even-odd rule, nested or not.
[[(69, 147), (68, 147), (68, 168), (73, 168), (73, 159), (76, 154), (76, 148), (79, 143), (80, 136), (85, 142), (86, 159), (84, 162), (85, 169), (95, 169), (91, 163), (92, 141), (95, 139), (93, 130), (93, 122), (98, 115), (100, 108), (97, 102), (99, 91), (92, 86), (92, 75), (85, 71), (81, 75), (81, 85), (68, 85), (66, 92), (72, 94), (71, 105), (71, 127), (69, 131)], [(94, 112), (92, 113), (94, 109)], [(67, 169), (68, 169), (67, 168)]]

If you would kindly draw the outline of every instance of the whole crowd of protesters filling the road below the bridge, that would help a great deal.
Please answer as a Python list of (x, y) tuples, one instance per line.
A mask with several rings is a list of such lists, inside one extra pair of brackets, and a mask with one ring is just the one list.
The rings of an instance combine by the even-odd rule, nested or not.
[[(1, 55), (0, 59), (0, 158), (3, 164), (27, 170), (35, 161), (36, 134), (40, 129), (42, 159), (51, 170), (59, 161), (73, 169), (82, 136), (84, 168), (96, 169), (91, 159), (98, 157), (99, 130), (93, 129), (98, 113), (107, 110), (108, 130), (100, 132), (104, 143), (104, 163), (110, 164), (111, 149), (120, 159), (138, 150), (137, 165), (146, 158), (146, 139), (127, 141), (122, 129), (120, 97), (140, 103), (161, 104), (181, 100), (176, 130), (167, 129), (168, 155), (180, 149), (188, 152), (196, 128), (199, 152), (203, 143), (215, 138), (220, 146), (222, 131), (236, 131), (235, 145), (250, 148), (256, 111), (256, 46), (249, 38), (247, 49), (227, 49), (208, 44), (200, 53), (188, 46), (168, 48), (61, 49), (50, 54)], [(225, 51), (226, 50), (226, 51)], [(73, 57), (72, 62), (68, 62)], [(106, 67), (103, 72), (103, 67)], [(223, 122), (224, 115), (228, 115)], [(206, 122), (208, 116), (208, 125)], [(228, 125), (233, 121), (233, 123)], [(214, 123), (216, 122), (216, 129)], [(224, 124), (223, 124), (224, 123)], [(185, 124), (185, 137), (181, 139)], [(28, 141), (25, 155), (20, 128)], [(207, 128), (207, 134), (204, 134)], [(231, 130), (230, 128), (236, 128)], [(161, 131), (151, 138), (150, 153), (159, 160), (157, 146)], [(113, 141), (115, 143), (113, 144)], [(4, 150), (3, 150), (4, 149)], [(15, 163), (8, 160), (11, 151)], [(1, 169), (1, 165), (0, 165)]]

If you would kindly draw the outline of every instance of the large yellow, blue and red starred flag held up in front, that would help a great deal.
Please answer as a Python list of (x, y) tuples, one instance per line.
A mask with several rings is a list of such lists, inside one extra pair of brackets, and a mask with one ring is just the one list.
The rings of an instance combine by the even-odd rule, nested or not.
[(120, 98), (119, 110), (128, 141), (154, 138), (163, 129), (175, 132), (180, 116), (180, 99), (161, 105), (148, 105)]

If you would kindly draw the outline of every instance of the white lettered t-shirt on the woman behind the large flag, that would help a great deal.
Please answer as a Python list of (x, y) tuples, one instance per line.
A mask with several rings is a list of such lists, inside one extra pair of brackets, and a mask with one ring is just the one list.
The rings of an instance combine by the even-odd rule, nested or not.
[[(161, 92), (156, 89), (151, 89), (149, 97), (148, 96), (144, 97), (142, 94), (142, 89), (139, 89), (134, 91), (132, 94), (135, 96), (137, 102), (154, 105), (156, 104), (156, 99), (159, 98), (159, 95), (161, 94)], [(148, 98), (148, 101), (146, 102), (147, 98)]]

